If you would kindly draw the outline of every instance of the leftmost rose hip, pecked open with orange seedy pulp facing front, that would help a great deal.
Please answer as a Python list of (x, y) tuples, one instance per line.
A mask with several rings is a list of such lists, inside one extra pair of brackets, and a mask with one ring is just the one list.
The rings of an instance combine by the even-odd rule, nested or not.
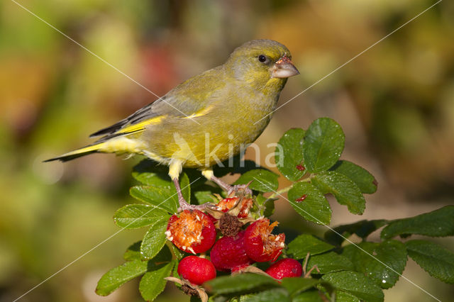
[(199, 210), (184, 210), (179, 217), (170, 217), (165, 235), (180, 250), (197, 254), (206, 252), (213, 246), (216, 228), (205, 213)]

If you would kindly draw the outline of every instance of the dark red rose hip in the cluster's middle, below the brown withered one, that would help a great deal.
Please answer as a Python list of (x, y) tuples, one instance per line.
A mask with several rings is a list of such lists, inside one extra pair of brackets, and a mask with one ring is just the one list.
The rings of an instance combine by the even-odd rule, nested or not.
[(216, 269), (225, 272), (235, 271), (253, 263), (244, 250), (244, 234), (243, 230), (236, 237), (224, 236), (214, 243), (210, 258)]

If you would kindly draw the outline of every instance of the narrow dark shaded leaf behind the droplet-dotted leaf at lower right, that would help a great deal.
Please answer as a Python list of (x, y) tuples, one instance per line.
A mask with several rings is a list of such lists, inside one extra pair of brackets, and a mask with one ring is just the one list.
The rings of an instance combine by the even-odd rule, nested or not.
[(341, 245), (345, 238), (350, 237), (350, 235), (358, 235), (362, 239), (367, 238), (371, 233), (375, 232), (379, 228), (382, 228), (383, 225), (386, 225), (388, 220), (360, 220), (356, 223), (351, 223), (348, 225), (339, 225), (332, 230), (327, 230), (324, 237), (326, 241), (330, 242), (333, 245)]

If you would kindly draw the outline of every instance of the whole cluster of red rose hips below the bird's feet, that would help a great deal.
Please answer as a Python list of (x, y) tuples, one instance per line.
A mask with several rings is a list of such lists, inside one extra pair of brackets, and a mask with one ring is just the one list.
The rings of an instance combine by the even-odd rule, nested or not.
[[(275, 262), (285, 247), (284, 233), (273, 235), (277, 222), (267, 218), (254, 220), (250, 208), (253, 199), (245, 197), (223, 198), (214, 209), (206, 213), (185, 210), (170, 218), (167, 239), (184, 252), (199, 256), (184, 257), (178, 265), (183, 281), (201, 285), (221, 272), (250, 272), (254, 262)], [(247, 228), (244, 225), (250, 223)], [(216, 240), (217, 230), (221, 237)], [(209, 259), (205, 253), (209, 253)], [(258, 269), (256, 269), (257, 271)], [(265, 273), (275, 279), (301, 276), (301, 264), (295, 259), (284, 258), (272, 264)]]

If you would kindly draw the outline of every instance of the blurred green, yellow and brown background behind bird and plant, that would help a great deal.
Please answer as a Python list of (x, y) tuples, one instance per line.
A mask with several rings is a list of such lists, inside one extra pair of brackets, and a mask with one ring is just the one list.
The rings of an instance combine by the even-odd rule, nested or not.
[[(280, 104), (355, 57), (434, 0), (18, 1), (155, 94), (220, 65), (238, 45), (269, 38), (287, 45), (301, 72)], [(442, 1), (275, 113), (258, 140), (262, 164), (292, 127), (329, 116), (345, 131), (343, 159), (379, 183), (363, 216), (333, 206), (333, 223), (402, 218), (453, 203), (454, 3)], [(89, 144), (88, 135), (155, 96), (13, 1), (0, 3), (0, 301), (12, 301), (78, 257), (21, 301), (141, 301), (131, 281), (108, 297), (94, 293), (106, 270), (145, 230), (114, 225), (134, 202), (139, 159), (91, 155), (42, 161)], [(254, 158), (253, 152), (247, 152)], [(284, 186), (285, 183), (282, 183)], [(275, 219), (299, 231), (284, 201)], [(96, 247), (111, 235), (102, 245)], [(372, 239), (374, 237), (372, 236)], [(375, 235), (378, 238), (378, 235)], [(438, 240), (454, 250), (453, 240)], [(92, 250), (93, 247), (96, 249)], [(404, 275), (438, 298), (453, 286), (409, 260)], [(401, 280), (387, 301), (431, 301)], [(188, 301), (168, 286), (158, 301)]]

